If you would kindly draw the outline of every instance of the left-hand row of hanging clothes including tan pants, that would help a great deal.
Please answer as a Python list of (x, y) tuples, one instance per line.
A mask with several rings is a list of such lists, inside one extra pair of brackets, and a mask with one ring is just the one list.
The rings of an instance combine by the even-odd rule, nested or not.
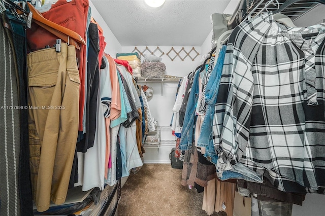
[(104, 52), (88, 0), (58, 0), (43, 14), (24, 3), (0, 0), (4, 215), (33, 215), (32, 200), (44, 212), (75, 186), (113, 186), (143, 165), (154, 130), (145, 88)]

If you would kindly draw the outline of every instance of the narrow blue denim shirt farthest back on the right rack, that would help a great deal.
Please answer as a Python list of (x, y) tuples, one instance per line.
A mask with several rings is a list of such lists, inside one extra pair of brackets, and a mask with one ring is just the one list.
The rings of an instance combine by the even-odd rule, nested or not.
[(193, 127), (195, 124), (195, 110), (199, 98), (199, 75), (200, 70), (197, 70), (194, 75), (193, 84), (188, 96), (183, 122), (182, 136), (179, 145), (181, 151), (190, 150), (192, 147)]

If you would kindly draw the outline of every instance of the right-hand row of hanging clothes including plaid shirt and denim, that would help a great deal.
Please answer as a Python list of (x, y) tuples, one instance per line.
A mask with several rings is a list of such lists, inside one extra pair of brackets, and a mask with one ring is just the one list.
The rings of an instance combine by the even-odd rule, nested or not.
[(206, 187), (208, 214), (232, 215), (234, 181), (224, 194), (208, 195), (224, 181), (235, 180), (259, 212), (281, 215), (306, 193), (324, 193), (324, 38), (323, 23), (289, 27), (264, 13), (242, 22), (215, 58), (184, 77), (172, 129), (181, 133), (182, 185)]

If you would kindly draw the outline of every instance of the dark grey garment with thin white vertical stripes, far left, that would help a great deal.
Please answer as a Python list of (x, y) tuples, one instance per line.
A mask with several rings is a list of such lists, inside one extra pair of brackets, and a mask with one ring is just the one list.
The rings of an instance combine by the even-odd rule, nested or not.
[(18, 189), (20, 125), (14, 53), (0, 23), (0, 215), (21, 215)]

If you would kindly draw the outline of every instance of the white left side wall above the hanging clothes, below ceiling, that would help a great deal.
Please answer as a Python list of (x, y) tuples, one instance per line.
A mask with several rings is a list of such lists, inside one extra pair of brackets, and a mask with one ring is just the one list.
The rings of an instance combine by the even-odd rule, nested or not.
[(108, 27), (98, 10), (89, 0), (89, 6), (91, 7), (91, 16), (98, 22), (98, 24), (103, 28), (103, 35), (105, 37), (105, 42), (107, 43), (105, 52), (115, 57), (115, 53), (121, 52), (122, 46), (116, 39), (115, 35)]

